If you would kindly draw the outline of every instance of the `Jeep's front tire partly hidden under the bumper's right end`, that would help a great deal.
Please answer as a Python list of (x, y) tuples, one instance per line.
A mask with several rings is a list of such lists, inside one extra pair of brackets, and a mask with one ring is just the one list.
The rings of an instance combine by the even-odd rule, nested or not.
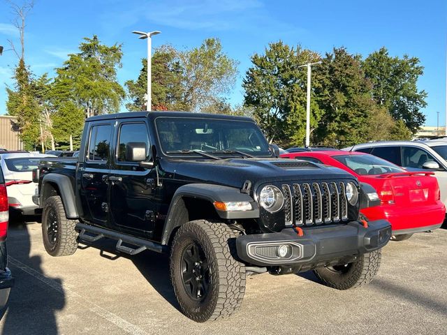
[(320, 281), (330, 288), (349, 290), (370, 283), (379, 271), (381, 249), (361, 255), (356, 262), (345, 266), (322, 267), (314, 270)]

